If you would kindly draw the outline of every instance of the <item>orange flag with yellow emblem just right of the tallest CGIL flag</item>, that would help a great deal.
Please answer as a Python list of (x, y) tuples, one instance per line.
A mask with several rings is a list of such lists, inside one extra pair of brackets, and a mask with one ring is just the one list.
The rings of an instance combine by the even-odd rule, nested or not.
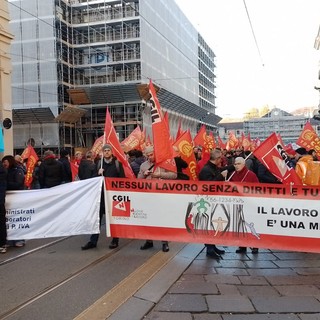
[(180, 135), (180, 138), (174, 143), (181, 154), (181, 158), (188, 163), (188, 168), (185, 169), (185, 173), (190, 177), (190, 180), (198, 180), (197, 177), (197, 161), (193, 152), (192, 138), (190, 131), (184, 132)]

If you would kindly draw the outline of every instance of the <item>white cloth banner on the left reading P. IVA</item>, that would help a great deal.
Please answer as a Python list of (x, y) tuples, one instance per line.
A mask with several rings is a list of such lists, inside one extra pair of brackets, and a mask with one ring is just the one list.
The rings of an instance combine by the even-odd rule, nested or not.
[(50, 189), (8, 191), (8, 240), (99, 233), (103, 178), (75, 181)]

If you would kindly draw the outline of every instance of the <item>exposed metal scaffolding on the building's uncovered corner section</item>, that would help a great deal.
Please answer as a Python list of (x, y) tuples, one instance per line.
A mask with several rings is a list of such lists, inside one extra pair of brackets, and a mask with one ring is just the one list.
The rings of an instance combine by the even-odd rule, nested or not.
[[(61, 111), (74, 104), (67, 94), (70, 89), (141, 81), (138, 1), (76, 0), (66, 5), (57, 0), (57, 4)], [(61, 141), (65, 145), (86, 147), (103, 134), (106, 104), (82, 101), (87, 113), (81, 123), (62, 123)], [(120, 139), (141, 124), (141, 101), (112, 103), (109, 108)]]

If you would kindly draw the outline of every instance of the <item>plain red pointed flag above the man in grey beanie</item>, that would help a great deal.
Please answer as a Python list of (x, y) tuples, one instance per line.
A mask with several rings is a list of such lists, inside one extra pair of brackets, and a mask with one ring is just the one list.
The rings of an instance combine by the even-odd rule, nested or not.
[(104, 126), (104, 143), (108, 143), (112, 146), (112, 153), (121, 162), (125, 176), (127, 178), (135, 178), (128, 159), (121, 148), (108, 108), (106, 113), (106, 123)]

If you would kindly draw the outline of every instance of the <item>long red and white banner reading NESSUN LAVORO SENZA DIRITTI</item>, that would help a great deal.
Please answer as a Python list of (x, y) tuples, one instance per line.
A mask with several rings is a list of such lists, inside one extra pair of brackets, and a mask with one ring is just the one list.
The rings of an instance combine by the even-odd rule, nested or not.
[(106, 189), (113, 237), (320, 252), (320, 187), (106, 179)]

